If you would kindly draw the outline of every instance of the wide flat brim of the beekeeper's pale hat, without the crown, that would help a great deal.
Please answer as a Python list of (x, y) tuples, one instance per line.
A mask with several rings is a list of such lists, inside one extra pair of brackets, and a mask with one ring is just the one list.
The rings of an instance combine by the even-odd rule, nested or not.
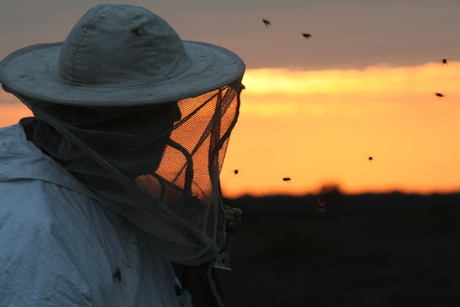
[(61, 43), (20, 49), (2, 62), (0, 83), (13, 94), (35, 101), (80, 106), (161, 104), (218, 89), (240, 79), (243, 61), (233, 52), (211, 44), (183, 41), (192, 65), (181, 75), (151, 84), (128, 87), (64, 84), (56, 76)]

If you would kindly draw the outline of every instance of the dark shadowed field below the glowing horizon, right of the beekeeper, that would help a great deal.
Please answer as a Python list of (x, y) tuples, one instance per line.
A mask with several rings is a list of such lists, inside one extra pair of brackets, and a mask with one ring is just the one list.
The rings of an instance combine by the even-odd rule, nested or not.
[[(460, 306), (460, 194), (243, 197), (228, 307)], [(199, 297), (196, 306), (206, 306)]]

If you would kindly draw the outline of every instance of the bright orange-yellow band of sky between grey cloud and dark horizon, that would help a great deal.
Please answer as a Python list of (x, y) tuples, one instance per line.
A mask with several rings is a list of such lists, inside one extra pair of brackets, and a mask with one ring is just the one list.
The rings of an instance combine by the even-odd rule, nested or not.
[[(452, 61), (248, 70), (221, 172), (223, 194), (302, 195), (328, 184), (352, 194), (457, 192), (459, 80), (460, 62)], [(0, 92), (0, 126), (31, 115), (15, 101)]]

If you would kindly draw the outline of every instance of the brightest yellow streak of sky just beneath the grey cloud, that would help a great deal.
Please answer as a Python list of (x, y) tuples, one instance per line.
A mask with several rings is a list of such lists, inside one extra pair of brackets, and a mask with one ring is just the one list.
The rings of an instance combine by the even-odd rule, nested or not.
[[(244, 84), (251, 94), (346, 94), (426, 92), (460, 77), (460, 62), (449, 65), (427, 63), (415, 67), (373, 66), (363, 70), (295, 71), (288, 69), (248, 70)], [(460, 92), (460, 89), (458, 90)]]

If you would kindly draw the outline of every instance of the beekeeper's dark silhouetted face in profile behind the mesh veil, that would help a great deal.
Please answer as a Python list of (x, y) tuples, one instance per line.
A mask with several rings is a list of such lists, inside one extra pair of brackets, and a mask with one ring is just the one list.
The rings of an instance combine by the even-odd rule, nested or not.
[(151, 174), (159, 167), (174, 123), (181, 119), (176, 102), (155, 107), (120, 107), (71, 111), (73, 123), (85, 135), (85, 143), (125, 176)]

